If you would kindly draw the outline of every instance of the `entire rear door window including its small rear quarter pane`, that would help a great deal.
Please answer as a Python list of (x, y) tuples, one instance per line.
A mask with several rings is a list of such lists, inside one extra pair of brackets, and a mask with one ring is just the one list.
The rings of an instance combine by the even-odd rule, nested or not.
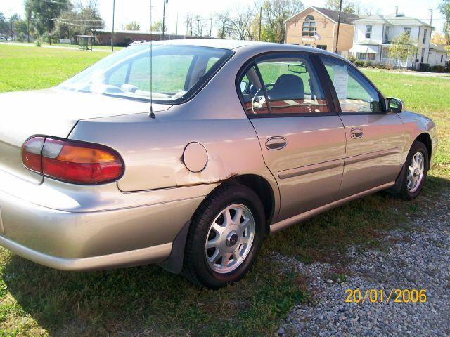
[(240, 93), (250, 115), (328, 112), (323, 89), (307, 55), (277, 54), (258, 58), (256, 67), (251, 67), (241, 77)]

